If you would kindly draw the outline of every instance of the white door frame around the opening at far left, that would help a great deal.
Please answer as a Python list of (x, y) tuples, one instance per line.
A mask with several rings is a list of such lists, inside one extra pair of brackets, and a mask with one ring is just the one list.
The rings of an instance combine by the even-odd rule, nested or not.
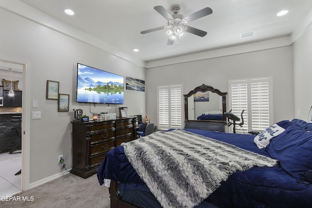
[(30, 61), (0, 55), (0, 61), (23, 66), (22, 134), (21, 134), (21, 190), (30, 183)]

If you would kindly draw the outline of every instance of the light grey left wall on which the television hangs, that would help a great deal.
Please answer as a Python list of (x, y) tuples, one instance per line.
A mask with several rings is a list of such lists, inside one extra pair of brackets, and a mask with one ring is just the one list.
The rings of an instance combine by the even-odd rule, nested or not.
[[(41, 119), (29, 120), (30, 124), (30, 183), (55, 175), (63, 170), (58, 155), (64, 155), (64, 163), (72, 167), (73, 109), (81, 108), (89, 113), (89, 105), (78, 104), (76, 96), (77, 63), (103, 69), (122, 76), (145, 80), (145, 69), (124, 59), (108, 54), (97, 47), (70, 38), (33, 21), (23, 19), (0, 8), (0, 55), (30, 62), (30, 100), (38, 100)], [(58, 113), (57, 100), (47, 100), (47, 80), (59, 81), (59, 93), (70, 95), (70, 112)], [(129, 115), (145, 114), (145, 93), (125, 90), (125, 103)], [(31, 104), (29, 104), (32, 106)], [(104, 111), (103, 104), (91, 111)], [(110, 105), (116, 111), (120, 105)], [(141, 113), (141, 109), (142, 112)]]

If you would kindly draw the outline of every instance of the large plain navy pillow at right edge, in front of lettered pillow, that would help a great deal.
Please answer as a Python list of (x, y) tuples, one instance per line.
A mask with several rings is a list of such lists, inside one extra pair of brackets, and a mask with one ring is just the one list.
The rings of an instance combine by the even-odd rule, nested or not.
[(274, 137), (266, 150), (299, 183), (312, 183), (312, 178), (309, 177), (312, 170), (312, 132), (292, 124)]

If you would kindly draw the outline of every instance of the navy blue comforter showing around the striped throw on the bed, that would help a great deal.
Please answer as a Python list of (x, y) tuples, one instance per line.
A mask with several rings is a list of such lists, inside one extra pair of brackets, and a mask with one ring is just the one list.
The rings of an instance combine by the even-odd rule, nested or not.
[[(269, 156), (265, 149), (257, 148), (253, 141), (254, 135), (251, 134), (185, 130)], [(101, 185), (104, 178), (121, 183), (144, 184), (124, 155), (123, 147), (108, 152), (101, 163), (98, 169), (98, 181)], [(312, 185), (297, 183), (281, 167), (254, 167), (235, 172), (206, 201), (220, 208), (305, 208), (312, 205)]]

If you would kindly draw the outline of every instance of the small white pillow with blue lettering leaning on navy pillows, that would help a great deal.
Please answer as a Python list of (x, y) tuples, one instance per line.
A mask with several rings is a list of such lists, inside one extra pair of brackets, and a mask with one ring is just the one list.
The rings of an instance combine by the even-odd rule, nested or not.
[(258, 133), (254, 137), (254, 143), (257, 145), (259, 149), (266, 148), (266, 146), (270, 143), (270, 140), (281, 134), (287, 129), (292, 123), (289, 120), (280, 121), (272, 126), (266, 128), (262, 132)]

